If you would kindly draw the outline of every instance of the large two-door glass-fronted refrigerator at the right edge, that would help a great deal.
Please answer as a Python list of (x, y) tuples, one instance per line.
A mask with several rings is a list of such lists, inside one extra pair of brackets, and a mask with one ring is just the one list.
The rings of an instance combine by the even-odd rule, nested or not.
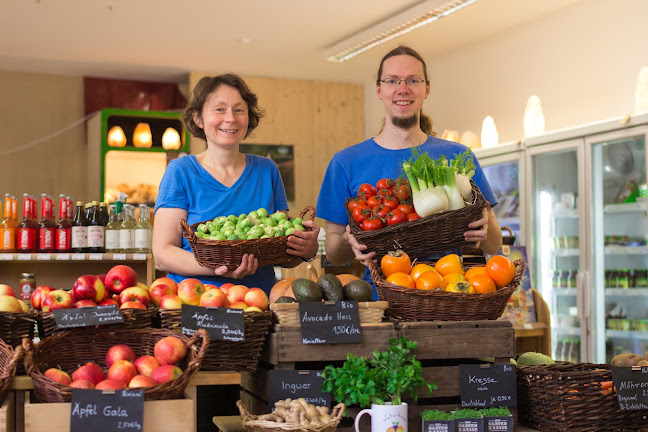
[(523, 143), (532, 277), (556, 360), (609, 363), (648, 349), (646, 135), (642, 114)]

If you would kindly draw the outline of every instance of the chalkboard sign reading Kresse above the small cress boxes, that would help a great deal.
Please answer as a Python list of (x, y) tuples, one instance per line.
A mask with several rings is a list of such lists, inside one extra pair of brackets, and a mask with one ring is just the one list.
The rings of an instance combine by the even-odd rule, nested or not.
[(459, 365), (459, 389), (463, 408), (514, 407), (517, 405), (515, 366)]

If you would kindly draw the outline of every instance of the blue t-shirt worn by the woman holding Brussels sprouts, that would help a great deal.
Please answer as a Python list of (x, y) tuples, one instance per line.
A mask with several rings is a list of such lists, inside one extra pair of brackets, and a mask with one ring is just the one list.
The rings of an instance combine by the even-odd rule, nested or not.
[[(229, 214), (249, 213), (264, 207), (268, 213), (288, 210), (286, 191), (279, 175), (279, 168), (269, 158), (246, 154), (245, 170), (231, 187), (212, 177), (194, 155), (172, 160), (167, 166), (157, 200), (159, 208), (180, 208), (187, 210), (187, 223), (192, 225)], [(183, 237), (182, 248), (191, 252), (189, 242)], [(204, 283), (220, 286), (226, 282), (259, 287), (270, 292), (277, 279), (271, 265), (260, 267), (253, 275), (242, 279), (220, 276), (193, 276), (169, 273), (171, 279), (179, 282), (189, 277)]]

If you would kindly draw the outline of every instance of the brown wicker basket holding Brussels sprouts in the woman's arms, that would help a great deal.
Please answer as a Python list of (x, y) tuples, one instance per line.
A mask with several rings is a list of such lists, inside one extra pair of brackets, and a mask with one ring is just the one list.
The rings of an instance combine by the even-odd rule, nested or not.
[[(306, 206), (299, 217), (303, 218), (310, 213), (309, 220), (315, 218), (315, 207)], [(204, 222), (197, 222), (191, 226), (182, 219), (182, 235), (187, 239), (196, 261), (203, 267), (227, 266), (229, 270), (241, 265), (245, 254), (254, 254), (259, 260), (259, 266), (282, 265), (295, 259), (295, 255), (286, 252), (286, 242), (290, 236), (272, 237), (253, 240), (206, 240), (196, 236), (196, 228)], [(306, 230), (310, 228), (306, 227)]]

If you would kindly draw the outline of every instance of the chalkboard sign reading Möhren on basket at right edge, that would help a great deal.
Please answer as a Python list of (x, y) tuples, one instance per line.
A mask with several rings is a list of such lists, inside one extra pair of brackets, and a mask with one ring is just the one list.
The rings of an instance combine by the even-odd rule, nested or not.
[(619, 408), (648, 409), (648, 366), (612, 367)]

